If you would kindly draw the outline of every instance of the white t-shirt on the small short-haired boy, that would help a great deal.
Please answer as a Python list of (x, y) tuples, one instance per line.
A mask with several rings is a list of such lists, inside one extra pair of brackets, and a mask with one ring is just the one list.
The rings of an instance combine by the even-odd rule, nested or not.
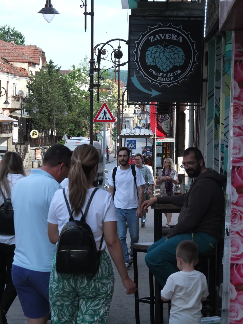
[(169, 324), (201, 324), (202, 297), (208, 296), (206, 277), (196, 270), (175, 272), (168, 277), (161, 296), (171, 299)]

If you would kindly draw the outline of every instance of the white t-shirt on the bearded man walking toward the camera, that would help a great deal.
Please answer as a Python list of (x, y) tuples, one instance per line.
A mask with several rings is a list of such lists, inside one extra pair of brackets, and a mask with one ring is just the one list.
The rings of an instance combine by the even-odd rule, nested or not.
[[(135, 168), (136, 170), (136, 183), (137, 186), (143, 186), (145, 184), (145, 179), (142, 172)], [(114, 181), (112, 179), (113, 170), (110, 171), (108, 177), (108, 183), (110, 186), (114, 187)], [(116, 192), (114, 197), (114, 203), (116, 208), (121, 209), (132, 209), (138, 207), (137, 198), (137, 188), (134, 182), (133, 173), (131, 166), (127, 170), (121, 170), (119, 166), (116, 171)]]

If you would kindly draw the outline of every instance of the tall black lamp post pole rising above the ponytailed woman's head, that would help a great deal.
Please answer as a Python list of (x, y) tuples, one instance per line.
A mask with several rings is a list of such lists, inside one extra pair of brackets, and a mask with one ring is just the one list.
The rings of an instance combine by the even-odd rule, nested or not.
[(89, 116), (89, 143), (93, 145), (93, 113), (94, 113), (94, 0), (91, 0), (91, 39), (90, 39), (90, 84), (89, 84), (89, 93), (90, 93), (90, 116)]

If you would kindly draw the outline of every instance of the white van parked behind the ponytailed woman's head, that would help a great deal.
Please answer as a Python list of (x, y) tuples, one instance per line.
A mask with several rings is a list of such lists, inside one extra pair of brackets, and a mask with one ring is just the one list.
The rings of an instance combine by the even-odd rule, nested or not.
[[(89, 144), (89, 137), (73, 137), (71, 136), (69, 140), (65, 141), (64, 146), (68, 147), (71, 151), (74, 151), (78, 145)], [(97, 187), (98, 183), (103, 183), (103, 155), (102, 148), (99, 142), (93, 142), (94, 147), (98, 150), (99, 153), (99, 164), (98, 164), (98, 172), (97, 177), (94, 181), (94, 186)]]

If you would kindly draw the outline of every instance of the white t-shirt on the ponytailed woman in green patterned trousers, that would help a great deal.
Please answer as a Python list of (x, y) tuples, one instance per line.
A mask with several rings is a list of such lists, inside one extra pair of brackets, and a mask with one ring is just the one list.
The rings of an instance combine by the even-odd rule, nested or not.
[[(88, 189), (84, 206), (82, 207), (82, 212), (85, 212), (87, 203), (91, 196), (92, 191), (95, 188)], [(68, 188), (65, 188), (65, 193), (67, 200)], [(70, 202), (69, 202), (70, 204)], [(70, 207), (72, 210), (72, 208)], [(73, 215), (74, 216), (74, 215)], [(79, 213), (78, 216), (74, 216), (75, 220), (80, 220), (82, 214)], [(63, 226), (69, 221), (69, 213), (67, 205), (65, 203), (63, 190), (57, 190), (53, 196), (52, 203), (50, 205), (48, 214), (48, 223), (58, 224), (59, 234), (63, 229)], [(103, 233), (103, 222), (117, 222), (116, 210), (114, 206), (111, 194), (107, 191), (98, 189), (95, 193), (93, 200), (89, 206), (89, 210), (86, 216), (86, 223), (91, 227), (97, 249), (99, 249), (101, 236)], [(105, 240), (103, 240), (102, 250), (105, 249)]]

